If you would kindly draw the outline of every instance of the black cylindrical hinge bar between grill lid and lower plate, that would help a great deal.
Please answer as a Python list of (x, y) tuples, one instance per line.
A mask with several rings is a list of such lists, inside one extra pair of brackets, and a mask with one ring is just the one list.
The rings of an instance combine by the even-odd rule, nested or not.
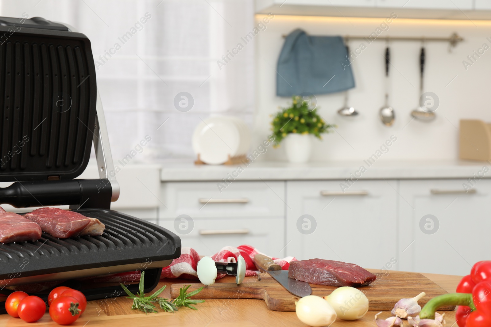
[(108, 179), (18, 181), (0, 188), (0, 204), (16, 208), (71, 205), (71, 209), (109, 209), (111, 193)]

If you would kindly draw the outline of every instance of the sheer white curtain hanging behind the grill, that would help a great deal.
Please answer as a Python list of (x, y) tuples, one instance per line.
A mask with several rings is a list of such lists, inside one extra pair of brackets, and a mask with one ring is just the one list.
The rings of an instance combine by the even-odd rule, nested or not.
[[(241, 40), (254, 28), (252, 0), (1, 0), (0, 4), (0, 16), (20, 17), (26, 12), (29, 18), (70, 24), (90, 39), (115, 160), (145, 135), (152, 140), (135, 161), (190, 157), (192, 131), (210, 115), (252, 122), (254, 44)], [(221, 57), (238, 43), (244, 49), (219, 67), (217, 61), (223, 62)], [(190, 111), (174, 106), (180, 92), (191, 94)]]

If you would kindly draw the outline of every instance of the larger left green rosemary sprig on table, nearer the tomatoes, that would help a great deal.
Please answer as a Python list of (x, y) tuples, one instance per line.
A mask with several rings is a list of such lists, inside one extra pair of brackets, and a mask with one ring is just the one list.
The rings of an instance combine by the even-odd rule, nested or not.
[(172, 303), (167, 301), (168, 299), (158, 298), (158, 296), (164, 291), (165, 286), (160, 290), (152, 294), (151, 296), (145, 296), (143, 293), (144, 283), (143, 279), (145, 278), (145, 272), (141, 272), (140, 283), (139, 283), (139, 293), (133, 294), (130, 292), (125, 285), (120, 284), (123, 290), (128, 294), (128, 299), (133, 299), (133, 305), (131, 307), (132, 310), (140, 310), (145, 312), (146, 314), (156, 313), (157, 307), (154, 303), (159, 304), (160, 308), (165, 312), (174, 312), (178, 310), (178, 307)]

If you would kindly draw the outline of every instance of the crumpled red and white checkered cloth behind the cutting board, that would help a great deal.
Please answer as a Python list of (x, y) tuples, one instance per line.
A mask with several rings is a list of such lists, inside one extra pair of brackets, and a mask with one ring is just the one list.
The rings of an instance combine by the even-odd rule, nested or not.
[[(256, 266), (254, 265), (254, 255), (264, 254), (259, 252), (256, 248), (250, 245), (241, 245), (237, 248), (234, 247), (224, 247), (219, 252), (212, 256), (214, 261), (218, 262), (237, 262), (237, 257), (242, 255), (246, 261), (246, 276), (257, 275)], [(198, 279), (198, 274), (196, 273), (196, 266), (198, 264), (200, 257), (198, 252), (191, 248), (182, 248), (181, 256), (177, 259), (172, 260), (172, 263), (162, 270), (161, 278), (183, 278), (183, 279)], [(283, 270), (288, 270), (291, 261), (297, 261), (292, 256), (286, 258), (272, 258), (274, 263), (281, 266)], [(144, 264), (143, 264), (144, 265)], [(225, 274), (218, 274), (217, 279), (226, 276)], [(109, 282), (137, 282), (140, 280), (140, 272), (127, 272), (114, 275), (105, 275), (99, 277), (87, 277), (81, 280), (85, 282), (92, 283), (109, 283)], [(55, 286), (57, 283), (62, 281), (51, 281), (46, 283), (36, 283), (29, 285), (20, 285), (14, 287), (7, 287), (15, 291), (25, 291), (25, 292), (40, 292)]]

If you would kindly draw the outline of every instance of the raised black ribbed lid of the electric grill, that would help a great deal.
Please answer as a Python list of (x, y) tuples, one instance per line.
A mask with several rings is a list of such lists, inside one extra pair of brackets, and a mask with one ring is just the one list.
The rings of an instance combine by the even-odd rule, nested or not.
[(0, 181), (79, 176), (96, 99), (85, 35), (39, 17), (0, 17)]

